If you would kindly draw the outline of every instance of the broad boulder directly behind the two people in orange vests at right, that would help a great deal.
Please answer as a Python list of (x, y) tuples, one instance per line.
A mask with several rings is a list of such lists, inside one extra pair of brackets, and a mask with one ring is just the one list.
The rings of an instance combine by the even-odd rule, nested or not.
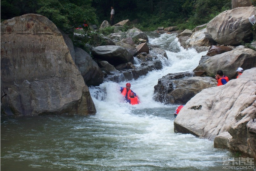
[(222, 70), (229, 79), (236, 78), (236, 69), (242, 67), (244, 70), (256, 66), (256, 51), (237, 47), (231, 51), (221, 53), (206, 59), (194, 69), (194, 72), (205, 71), (207, 75), (215, 75)]

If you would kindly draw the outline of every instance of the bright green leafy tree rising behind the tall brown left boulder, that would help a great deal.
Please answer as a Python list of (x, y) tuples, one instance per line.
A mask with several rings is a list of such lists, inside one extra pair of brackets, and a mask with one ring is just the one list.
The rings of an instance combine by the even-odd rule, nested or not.
[(96, 24), (96, 14), (91, 7), (91, 0), (40, 0), (38, 14), (49, 18), (64, 31), (73, 28), (88, 28), (88, 24)]

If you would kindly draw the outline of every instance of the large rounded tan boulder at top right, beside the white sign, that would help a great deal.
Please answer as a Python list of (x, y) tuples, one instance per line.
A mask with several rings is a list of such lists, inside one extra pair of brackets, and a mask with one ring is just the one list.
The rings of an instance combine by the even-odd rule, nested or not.
[(256, 13), (255, 7), (239, 7), (227, 10), (207, 24), (209, 36), (220, 45), (238, 45), (252, 38), (249, 17)]

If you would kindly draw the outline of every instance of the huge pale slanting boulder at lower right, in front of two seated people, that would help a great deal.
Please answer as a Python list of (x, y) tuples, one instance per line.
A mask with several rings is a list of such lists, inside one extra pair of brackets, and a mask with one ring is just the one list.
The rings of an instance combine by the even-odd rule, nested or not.
[(216, 145), (255, 157), (255, 87), (256, 68), (252, 68), (225, 85), (202, 90), (174, 120), (175, 132), (210, 140), (217, 138)]

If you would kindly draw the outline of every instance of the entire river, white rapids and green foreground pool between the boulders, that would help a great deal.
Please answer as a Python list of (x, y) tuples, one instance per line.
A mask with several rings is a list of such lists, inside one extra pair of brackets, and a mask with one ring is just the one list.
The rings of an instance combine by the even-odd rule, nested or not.
[[(2, 171), (194, 171), (228, 170), (222, 157), (235, 157), (214, 143), (173, 131), (177, 105), (153, 100), (154, 86), (168, 73), (193, 71), (201, 55), (180, 47), (174, 34), (149, 34), (166, 50), (163, 69), (129, 81), (141, 103), (123, 101), (120, 86), (90, 87), (94, 116), (1, 118)], [(230, 169), (232, 170), (232, 169)]]

